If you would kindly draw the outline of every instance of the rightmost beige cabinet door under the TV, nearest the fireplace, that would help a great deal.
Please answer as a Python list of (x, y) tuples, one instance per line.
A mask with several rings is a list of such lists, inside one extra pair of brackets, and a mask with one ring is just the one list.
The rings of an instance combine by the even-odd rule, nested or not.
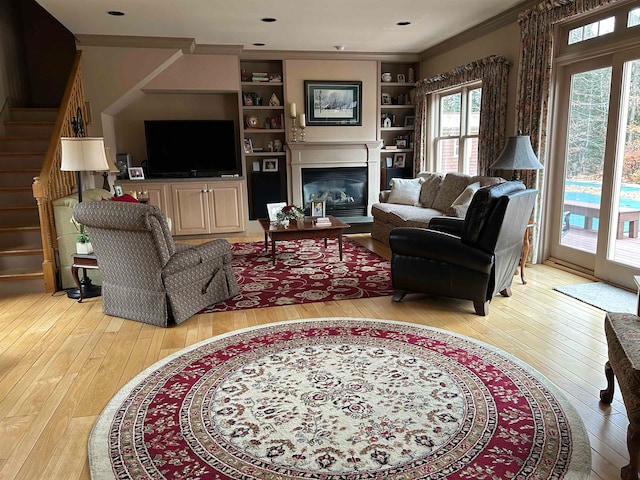
[(221, 182), (209, 184), (212, 196), (211, 233), (240, 232), (244, 230), (242, 212), (242, 184)]

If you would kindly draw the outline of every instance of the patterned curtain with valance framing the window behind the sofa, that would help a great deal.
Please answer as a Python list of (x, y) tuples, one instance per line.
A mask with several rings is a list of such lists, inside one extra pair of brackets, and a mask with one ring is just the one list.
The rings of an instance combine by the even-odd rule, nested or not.
[(446, 88), (482, 80), (480, 132), (478, 135), (478, 175), (486, 175), (504, 148), (509, 61), (498, 55), (476, 60), (467, 65), (435, 75), (416, 84), (416, 159), (414, 176), (426, 168), (427, 95)]

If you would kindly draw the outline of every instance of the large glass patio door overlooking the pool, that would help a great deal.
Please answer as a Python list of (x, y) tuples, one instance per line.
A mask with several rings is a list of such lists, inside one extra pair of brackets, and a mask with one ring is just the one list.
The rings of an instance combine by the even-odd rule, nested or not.
[(640, 269), (640, 55), (635, 55), (560, 69), (553, 150), (560, 161), (554, 162), (548, 196), (551, 256), (630, 288)]

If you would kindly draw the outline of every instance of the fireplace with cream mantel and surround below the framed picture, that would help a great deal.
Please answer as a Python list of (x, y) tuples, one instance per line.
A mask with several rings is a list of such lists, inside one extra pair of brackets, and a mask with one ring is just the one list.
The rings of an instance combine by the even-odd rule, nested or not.
[[(327, 197), (324, 199), (327, 215), (352, 218), (370, 216), (371, 205), (378, 201), (380, 192), (381, 143), (377, 140), (288, 143), (289, 198), (294, 204), (304, 205), (308, 209), (310, 187), (305, 193), (303, 184), (319, 181), (321, 184), (311, 188), (323, 189), (315, 195)], [(309, 174), (312, 177), (318, 175), (319, 178), (309, 180)], [(345, 180), (345, 183), (322, 184), (340, 180)]]

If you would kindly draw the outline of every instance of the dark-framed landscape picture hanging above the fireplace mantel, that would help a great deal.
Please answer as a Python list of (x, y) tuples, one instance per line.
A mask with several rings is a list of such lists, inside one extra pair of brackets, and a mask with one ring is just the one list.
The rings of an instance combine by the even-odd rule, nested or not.
[(362, 125), (361, 81), (304, 81), (308, 127)]

